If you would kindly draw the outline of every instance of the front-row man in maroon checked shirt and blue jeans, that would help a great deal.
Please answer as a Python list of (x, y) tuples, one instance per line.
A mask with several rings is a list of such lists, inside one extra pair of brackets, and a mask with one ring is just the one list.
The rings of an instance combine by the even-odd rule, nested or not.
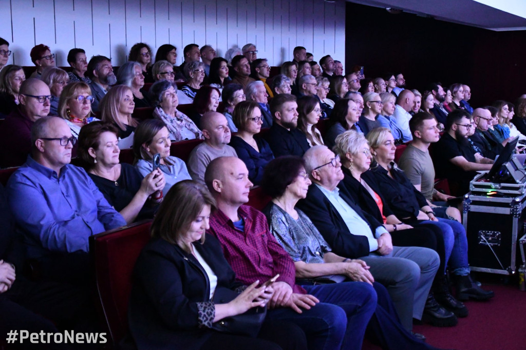
[(269, 232), (265, 215), (243, 205), (248, 202), (252, 183), (241, 160), (215, 159), (206, 170), (205, 181), (218, 206), (210, 217), (209, 233), (221, 243), (237, 279), (246, 284), (279, 274), (272, 284), (274, 295), (267, 312), (270, 320), (296, 323), (305, 331), (309, 349), (360, 349), (374, 312), (369, 325), (383, 348), (393, 348), (389, 344), (397, 343), (403, 348), (427, 348), (405, 332), (396, 317), (371, 302), (376, 293), (365, 282), (295, 283), (294, 263)]

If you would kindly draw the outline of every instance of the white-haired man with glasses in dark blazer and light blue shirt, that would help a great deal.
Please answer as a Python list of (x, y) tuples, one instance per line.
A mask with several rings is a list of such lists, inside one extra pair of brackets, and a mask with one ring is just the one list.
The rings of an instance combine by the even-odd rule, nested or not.
[(326, 146), (310, 148), (304, 159), (313, 184), (297, 207), (334, 253), (370, 266), (375, 279), (387, 287), (403, 326), (411, 330), (413, 318), (422, 317), (440, 264), (438, 254), (428, 248), (393, 247), (386, 228), (338, 190), (341, 163)]

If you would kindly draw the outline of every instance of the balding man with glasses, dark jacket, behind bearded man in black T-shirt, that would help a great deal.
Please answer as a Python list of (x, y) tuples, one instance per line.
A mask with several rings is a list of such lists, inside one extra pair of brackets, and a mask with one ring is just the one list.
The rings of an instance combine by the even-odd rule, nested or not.
[(473, 121), (475, 122), (475, 132), (469, 138), (473, 145), (478, 147), (481, 155), (485, 158), (495, 159), (504, 149), (502, 143), (488, 132), (493, 123), (491, 112), (487, 107), (477, 108), (473, 111)]

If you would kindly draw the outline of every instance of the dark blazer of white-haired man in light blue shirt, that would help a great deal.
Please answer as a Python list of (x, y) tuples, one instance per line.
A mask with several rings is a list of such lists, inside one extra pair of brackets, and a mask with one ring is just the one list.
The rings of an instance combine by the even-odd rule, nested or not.
[[(362, 212), (345, 193), (340, 192), (340, 197), (367, 222), (371, 232), (381, 225), (371, 215)], [(340, 213), (315, 184), (309, 187), (307, 198), (300, 200), (297, 207), (307, 214), (334, 253), (351, 259), (369, 255), (367, 237), (349, 231)]]

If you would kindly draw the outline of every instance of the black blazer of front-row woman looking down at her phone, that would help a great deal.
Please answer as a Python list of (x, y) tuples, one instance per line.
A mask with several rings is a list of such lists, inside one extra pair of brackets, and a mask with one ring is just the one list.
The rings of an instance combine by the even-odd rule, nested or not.
[[(241, 284), (216, 238), (194, 244), (217, 275), (216, 290)], [(176, 244), (153, 238), (135, 264), (128, 304), (130, 333), (138, 349), (199, 349), (210, 328), (199, 328), (198, 303), (210, 301), (210, 282), (192, 254)]]

